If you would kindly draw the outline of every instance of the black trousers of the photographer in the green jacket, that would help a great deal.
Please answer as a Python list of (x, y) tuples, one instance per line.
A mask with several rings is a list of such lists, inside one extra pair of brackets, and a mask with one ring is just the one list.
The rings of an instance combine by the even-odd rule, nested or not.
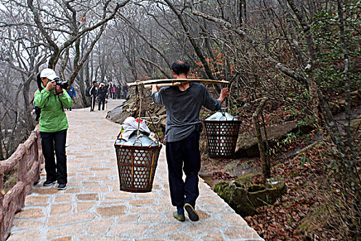
[(65, 154), (67, 129), (60, 132), (40, 132), (40, 136), (45, 158), (46, 180), (58, 180), (58, 183), (67, 183), (67, 155)]

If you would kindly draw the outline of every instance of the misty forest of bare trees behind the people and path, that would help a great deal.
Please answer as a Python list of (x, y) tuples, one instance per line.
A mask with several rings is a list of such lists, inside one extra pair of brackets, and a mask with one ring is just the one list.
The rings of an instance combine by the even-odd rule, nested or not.
[[(36, 126), (30, 101), (43, 68), (76, 87), (76, 105), (87, 107), (92, 81), (172, 78), (171, 63), (185, 59), (195, 78), (230, 81), (229, 111), (248, 128), (260, 133), (298, 121), (317, 130), (332, 167), (325, 171), (337, 183), (329, 192), (338, 189), (329, 225), (342, 239), (357, 240), (360, 126), (351, 127), (351, 118), (360, 105), (353, 99), (361, 87), (360, 12), (356, 0), (3, 0), (0, 160)], [(335, 112), (344, 112), (341, 129)], [(268, 178), (265, 136), (259, 147)]]

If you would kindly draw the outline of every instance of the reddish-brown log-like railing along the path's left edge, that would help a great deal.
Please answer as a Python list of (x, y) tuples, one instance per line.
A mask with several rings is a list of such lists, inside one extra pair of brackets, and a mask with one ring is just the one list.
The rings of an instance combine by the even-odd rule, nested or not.
[[(43, 161), (39, 125), (10, 158), (0, 161), (0, 241), (5, 241), (10, 235), (15, 213), (21, 211), (25, 197), (32, 191), (32, 186), (39, 182)], [(16, 184), (5, 193), (3, 174), (16, 167)]]

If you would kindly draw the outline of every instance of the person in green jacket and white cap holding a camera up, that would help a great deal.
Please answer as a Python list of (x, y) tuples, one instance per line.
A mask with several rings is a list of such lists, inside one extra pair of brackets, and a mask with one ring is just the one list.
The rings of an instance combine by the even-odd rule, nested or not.
[(73, 101), (63, 90), (67, 88), (67, 82), (60, 81), (54, 70), (41, 71), (40, 78), (42, 83), (34, 94), (34, 105), (41, 108), (39, 127), (46, 171), (43, 185), (58, 182), (58, 189), (63, 190), (67, 188), (65, 143), (69, 127), (64, 108), (72, 107)]

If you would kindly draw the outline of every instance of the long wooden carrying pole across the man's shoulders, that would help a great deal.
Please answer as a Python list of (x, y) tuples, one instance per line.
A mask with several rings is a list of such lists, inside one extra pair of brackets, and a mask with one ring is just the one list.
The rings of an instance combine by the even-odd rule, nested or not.
[(164, 87), (168, 85), (180, 85), (181, 83), (199, 82), (203, 84), (229, 84), (229, 81), (216, 81), (212, 79), (198, 79), (198, 78), (163, 78), (163, 79), (151, 79), (148, 81), (135, 81), (133, 83), (127, 83), (128, 86), (144, 85), (144, 88), (151, 88), (151, 85), (157, 84), (157, 87)]

